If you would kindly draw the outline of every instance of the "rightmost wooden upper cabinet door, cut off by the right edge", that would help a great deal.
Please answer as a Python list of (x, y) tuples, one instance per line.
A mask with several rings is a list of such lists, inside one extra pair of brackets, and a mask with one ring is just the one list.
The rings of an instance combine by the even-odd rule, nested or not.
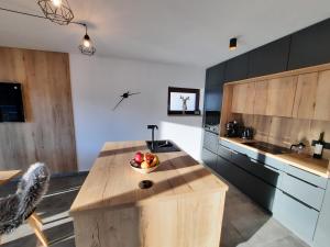
[(330, 70), (319, 72), (314, 119), (330, 121)]

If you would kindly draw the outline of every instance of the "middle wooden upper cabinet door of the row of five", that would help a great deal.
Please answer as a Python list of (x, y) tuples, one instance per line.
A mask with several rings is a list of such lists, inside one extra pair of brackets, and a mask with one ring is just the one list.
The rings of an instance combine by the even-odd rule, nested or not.
[[(297, 79), (297, 76), (290, 76), (270, 80), (267, 88), (267, 115), (292, 117)], [(255, 99), (255, 101), (258, 101), (258, 99)]]

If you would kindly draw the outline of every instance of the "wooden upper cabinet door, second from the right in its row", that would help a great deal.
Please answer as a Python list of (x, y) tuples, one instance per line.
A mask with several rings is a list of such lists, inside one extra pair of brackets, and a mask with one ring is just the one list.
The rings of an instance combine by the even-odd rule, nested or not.
[(298, 76), (293, 116), (312, 120), (316, 106), (318, 72)]

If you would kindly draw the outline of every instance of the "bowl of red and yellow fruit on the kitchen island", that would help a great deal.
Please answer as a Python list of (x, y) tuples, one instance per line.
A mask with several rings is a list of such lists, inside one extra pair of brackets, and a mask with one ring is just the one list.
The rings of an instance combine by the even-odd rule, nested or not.
[(141, 151), (138, 151), (130, 164), (133, 170), (140, 173), (150, 173), (160, 166), (160, 158), (151, 153), (142, 154)]

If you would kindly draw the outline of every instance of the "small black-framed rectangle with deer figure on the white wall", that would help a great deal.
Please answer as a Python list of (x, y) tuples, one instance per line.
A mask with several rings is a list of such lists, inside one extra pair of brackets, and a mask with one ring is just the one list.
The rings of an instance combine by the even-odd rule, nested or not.
[(199, 89), (168, 87), (168, 115), (200, 115)]

